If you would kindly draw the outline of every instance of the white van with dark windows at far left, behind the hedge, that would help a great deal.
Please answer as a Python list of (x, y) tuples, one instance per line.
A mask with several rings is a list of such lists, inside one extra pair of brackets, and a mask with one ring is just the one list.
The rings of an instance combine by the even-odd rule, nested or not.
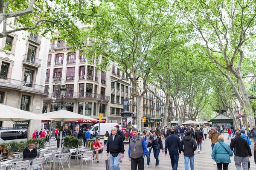
[(12, 141), (26, 141), (27, 133), (28, 130), (26, 129), (0, 129), (0, 144)]

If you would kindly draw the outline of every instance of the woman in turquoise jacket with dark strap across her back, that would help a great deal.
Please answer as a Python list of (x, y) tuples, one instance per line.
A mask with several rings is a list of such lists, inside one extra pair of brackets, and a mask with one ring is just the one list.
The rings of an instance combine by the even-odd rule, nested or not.
[(218, 170), (227, 170), (228, 164), (231, 163), (230, 156), (233, 156), (230, 146), (224, 142), (223, 136), (218, 136), (218, 142), (212, 150), (212, 159), (217, 162)]

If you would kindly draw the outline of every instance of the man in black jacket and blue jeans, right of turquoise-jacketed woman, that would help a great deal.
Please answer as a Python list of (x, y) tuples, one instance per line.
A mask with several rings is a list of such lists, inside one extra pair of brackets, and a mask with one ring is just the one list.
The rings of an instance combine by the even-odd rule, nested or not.
[(252, 156), (252, 152), (248, 142), (241, 137), (241, 132), (239, 130), (236, 130), (236, 137), (231, 139), (230, 148), (235, 154), (234, 161), (236, 169), (241, 170), (242, 163), (243, 170), (248, 170), (248, 161)]

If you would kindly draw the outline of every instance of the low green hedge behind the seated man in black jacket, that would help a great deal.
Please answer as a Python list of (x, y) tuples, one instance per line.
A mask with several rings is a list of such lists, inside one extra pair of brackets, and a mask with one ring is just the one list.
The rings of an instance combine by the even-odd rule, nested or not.
[(38, 138), (38, 139), (28, 139), (25, 142), (20, 141), (12, 141), (8, 143), (2, 143), (6, 146), (6, 148), (9, 150), (9, 152), (23, 152), (23, 150), (28, 147), (29, 143), (33, 142), (35, 144), (35, 149), (39, 150), (40, 148), (45, 147), (45, 138)]

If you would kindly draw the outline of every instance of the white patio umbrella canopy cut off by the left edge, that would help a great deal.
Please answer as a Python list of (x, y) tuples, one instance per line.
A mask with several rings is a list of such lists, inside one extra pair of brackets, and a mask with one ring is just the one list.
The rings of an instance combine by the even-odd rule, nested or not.
[(53, 120), (41, 115), (0, 104), (0, 121)]

